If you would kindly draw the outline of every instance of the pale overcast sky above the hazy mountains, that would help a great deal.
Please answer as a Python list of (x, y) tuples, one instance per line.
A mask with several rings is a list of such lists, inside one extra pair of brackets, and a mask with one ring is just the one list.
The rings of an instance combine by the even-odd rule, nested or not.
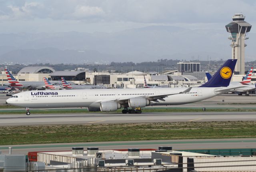
[(151, 25), (223, 30), (240, 12), (254, 26), (255, 0), (0, 0), (0, 33), (117, 32)]

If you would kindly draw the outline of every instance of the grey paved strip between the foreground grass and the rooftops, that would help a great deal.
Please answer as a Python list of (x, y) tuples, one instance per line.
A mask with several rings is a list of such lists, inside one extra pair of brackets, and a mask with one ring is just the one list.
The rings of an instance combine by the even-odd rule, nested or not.
[(33, 151), (63, 151), (72, 147), (82, 146), (98, 147), (100, 150), (144, 148), (158, 149), (158, 146), (172, 146), (173, 150), (188, 149), (242, 149), (255, 148), (256, 138), (230, 138), (230, 139), (184, 139), (184, 140), (143, 140), (118, 142), (84, 142), (59, 144), (26, 144), (0, 146), (3, 154), (8, 154), (8, 147), (12, 147), (13, 154), (27, 154)]

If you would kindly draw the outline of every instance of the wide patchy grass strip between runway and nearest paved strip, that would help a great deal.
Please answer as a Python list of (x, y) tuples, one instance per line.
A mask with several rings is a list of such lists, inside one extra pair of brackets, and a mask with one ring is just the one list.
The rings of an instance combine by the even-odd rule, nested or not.
[(255, 137), (256, 121), (0, 127), (0, 145)]

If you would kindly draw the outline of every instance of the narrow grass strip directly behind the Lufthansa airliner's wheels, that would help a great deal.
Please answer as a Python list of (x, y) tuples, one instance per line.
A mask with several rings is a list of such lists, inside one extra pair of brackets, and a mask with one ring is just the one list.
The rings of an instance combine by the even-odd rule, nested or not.
[[(113, 112), (96, 112), (96, 113), (121, 113), (122, 109)], [(207, 112), (256, 112), (256, 109), (242, 108), (206, 108)], [(24, 110), (0, 110), (0, 114), (25, 114)], [(44, 109), (30, 110), (32, 114), (68, 114), (68, 113), (94, 113), (88, 112), (87, 109)], [(142, 108), (142, 113), (146, 112), (203, 112), (202, 108)]]

